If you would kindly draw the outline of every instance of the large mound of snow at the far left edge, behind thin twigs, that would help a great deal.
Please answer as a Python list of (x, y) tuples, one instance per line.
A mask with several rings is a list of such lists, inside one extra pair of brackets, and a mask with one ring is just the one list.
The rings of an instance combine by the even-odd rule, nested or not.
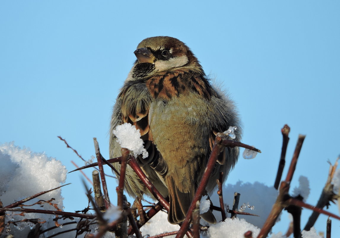
[[(66, 168), (55, 158), (48, 157), (45, 153), (34, 153), (30, 149), (17, 147), (14, 143), (0, 145), (0, 200), (3, 206), (10, 205), (18, 200), (32, 196), (36, 193), (59, 187), (66, 179)], [(64, 209), (63, 197), (61, 190), (53, 190), (37, 198), (26, 202), (33, 204), (40, 199), (50, 200), (55, 198), (53, 203), (58, 208)], [(53, 206), (44, 204), (30, 206), (31, 209), (55, 210)], [(42, 224), (43, 227), (53, 226), (52, 219), (55, 215), (26, 213), (24, 216), (15, 215), (20, 212), (6, 212), (6, 222), (8, 220), (20, 221), (23, 219), (40, 218), (39, 221), (51, 221), (51, 224)], [(14, 228), (15, 227), (15, 228)], [(30, 222), (18, 222), (17, 226), (10, 225), (6, 227), (9, 234), (15, 234), (17, 237), (26, 237), (34, 224)], [(51, 233), (52, 234), (52, 233)]]

